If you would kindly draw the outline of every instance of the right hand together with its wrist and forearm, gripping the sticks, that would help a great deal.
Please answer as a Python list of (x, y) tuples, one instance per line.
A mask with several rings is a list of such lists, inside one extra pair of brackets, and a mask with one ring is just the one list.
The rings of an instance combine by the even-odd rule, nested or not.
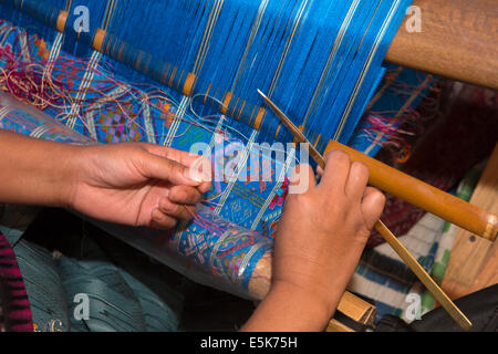
[(385, 197), (367, 187), (369, 169), (342, 152), (326, 155), (319, 185), (309, 165), (302, 194), (289, 195), (274, 238), (269, 294), (246, 331), (322, 331), (360, 261)]

